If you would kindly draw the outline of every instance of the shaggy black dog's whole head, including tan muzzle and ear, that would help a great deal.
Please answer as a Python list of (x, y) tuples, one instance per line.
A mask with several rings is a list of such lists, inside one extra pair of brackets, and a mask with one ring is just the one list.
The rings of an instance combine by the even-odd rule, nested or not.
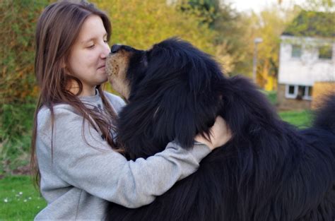
[(136, 127), (135, 138), (147, 136), (163, 147), (177, 140), (188, 148), (218, 114), (221, 69), (188, 42), (172, 38), (148, 50), (113, 45), (106, 70), (112, 87), (129, 101), (120, 113), (131, 121), (121, 122), (122, 134)]

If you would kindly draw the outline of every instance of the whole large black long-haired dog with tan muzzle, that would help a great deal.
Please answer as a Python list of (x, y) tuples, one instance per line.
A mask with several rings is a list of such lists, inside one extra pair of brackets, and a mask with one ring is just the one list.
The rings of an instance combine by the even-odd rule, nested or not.
[(233, 132), (197, 172), (150, 205), (111, 204), (109, 220), (334, 220), (334, 95), (312, 128), (299, 131), (249, 80), (226, 78), (211, 56), (178, 39), (148, 51), (114, 45), (107, 72), (129, 101), (119, 114), (118, 139), (131, 159), (154, 155), (172, 140), (192, 148), (218, 114)]

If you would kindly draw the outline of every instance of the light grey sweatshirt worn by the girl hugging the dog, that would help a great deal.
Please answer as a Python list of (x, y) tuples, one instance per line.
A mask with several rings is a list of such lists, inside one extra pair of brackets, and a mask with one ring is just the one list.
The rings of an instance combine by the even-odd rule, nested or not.
[[(119, 112), (124, 101), (105, 95)], [(99, 94), (81, 100), (87, 107), (103, 109)], [(112, 150), (88, 121), (83, 124), (83, 117), (68, 104), (54, 106), (52, 136), (50, 111), (42, 107), (37, 114), (36, 153), (47, 207), (35, 220), (102, 220), (108, 201), (128, 208), (146, 205), (195, 172), (210, 152), (201, 143), (184, 150), (172, 142), (146, 160), (129, 161)]]

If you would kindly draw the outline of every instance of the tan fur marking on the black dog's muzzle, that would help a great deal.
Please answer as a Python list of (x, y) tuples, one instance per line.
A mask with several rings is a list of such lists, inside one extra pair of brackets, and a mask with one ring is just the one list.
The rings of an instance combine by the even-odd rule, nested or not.
[(109, 54), (106, 59), (106, 73), (112, 88), (128, 100), (130, 94), (127, 70), (131, 52), (120, 49), (119, 52)]

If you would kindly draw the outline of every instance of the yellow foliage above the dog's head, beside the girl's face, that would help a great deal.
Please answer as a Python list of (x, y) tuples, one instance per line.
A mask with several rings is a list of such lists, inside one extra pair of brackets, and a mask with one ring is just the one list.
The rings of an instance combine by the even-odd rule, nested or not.
[(168, 37), (179, 36), (199, 49), (213, 54), (214, 32), (199, 25), (199, 18), (181, 13), (165, 0), (97, 1), (112, 20), (111, 43), (129, 44), (148, 49)]

